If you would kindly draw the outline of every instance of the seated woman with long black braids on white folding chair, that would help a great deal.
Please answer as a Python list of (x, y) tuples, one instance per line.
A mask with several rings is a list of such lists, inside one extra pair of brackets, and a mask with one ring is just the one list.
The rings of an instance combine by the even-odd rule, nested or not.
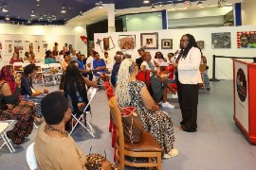
[[(88, 103), (85, 85), (95, 88), (97, 88), (98, 85), (88, 78), (83, 77), (77, 64), (77, 61), (71, 61), (66, 67), (64, 74), (64, 96), (70, 102), (72, 112), (81, 115), (82, 110), (84, 110), (84, 107), (86, 107)], [(89, 108), (87, 108), (87, 110), (89, 110)], [(68, 126), (70, 125), (67, 125), (67, 128)]]

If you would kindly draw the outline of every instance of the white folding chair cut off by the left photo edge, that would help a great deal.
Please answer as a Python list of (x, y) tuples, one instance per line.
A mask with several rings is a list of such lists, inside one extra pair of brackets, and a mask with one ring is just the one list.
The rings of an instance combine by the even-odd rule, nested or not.
[(11, 130), (14, 127), (16, 122), (17, 122), (16, 120), (0, 121), (0, 133), (1, 133), (0, 135), (1, 135), (1, 138), (4, 140), (4, 144), (1, 145), (0, 149), (5, 144), (7, 144), (10, 153), (15, 152), (15, 149), (9, 141), (9, 138), (7, 136), (7, 131)]

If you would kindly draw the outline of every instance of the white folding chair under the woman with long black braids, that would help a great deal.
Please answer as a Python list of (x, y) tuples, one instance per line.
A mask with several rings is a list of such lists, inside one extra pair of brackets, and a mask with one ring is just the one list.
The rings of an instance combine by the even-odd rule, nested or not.
[[(95, 94), (97, 93), (97, 90), (98, 90), (97, 88), (93, 88), (93, 90), (92, 90), (91, 93), (90, 93), (90, 91), (88, 90), (88, 94), (90, 93), (90, 96), (88, 96), (88, 97), (89, 97), (89, 102), (88, 102), (88, 104), (86, 105), (86, 107), (84, 108), (84, 110), (82, 111), (82, 114), (81, 114), (81, 116), (80, 116), (79, 118), (76, 117), (76, 114), (72, 114), (72, 129), (71, 129), (71, 131), (70, 131), (70, 135), (71, 135), (71, 133), (74, 131), (75, 127), (77, 127), (78, 124), (80, 124), (80, 125), (82, 125), (83, 128), (85, 128), (85, 129), (92, 135), (93, 138), (95, 137), (94, 134), (93, 134), (93, 130), (92, 130), (91, 124), (88, 123), (88, 121), (86, 121), (86, 125), (88, 125), (88, 127), (85, 127), (85, 126), (82, 124), (81, 120), (82, 120), (83, 113), (86, 113), (86, 114), (87, 114), (87, 112), (89, 112), (89, 111), (86, 111), (86, 109), (90, 106), (90, 104), (91, 104), (91, 102), (92, 102), (92, 100), (93, 100)], [(86, 115), (84, 115), (84, 116), (86, 116)], [(76, 124), (75, 124), (75, 126), (73, 126), (73, 120), (74, 120), (74, 119), (77, 121)], [(84, 117), (83, 119), (84, 119), (84, 121), (85, 121), (86, 117)]]

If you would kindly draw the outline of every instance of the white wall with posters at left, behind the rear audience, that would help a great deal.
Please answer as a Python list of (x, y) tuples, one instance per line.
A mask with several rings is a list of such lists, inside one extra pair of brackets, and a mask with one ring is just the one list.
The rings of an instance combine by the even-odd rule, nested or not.
[[(52, 50), (54, 42), (59, 43), (59, 51), (64, 47), (64, 43), (72, 44), (73, 48), (87, 53), (87, 45), (81, 40), (81, 36), (86, 36), (86, 26), (21, 26), (21, 25), (0, 25), (0, 42), (2, 43), (0, 67), (9, 63), (12, 53), (9, 53), (6, 42), (22, 41), (24, 46), (23, 55), (26, 52), (27, 42), (32, 42), (36, 58), (45, 57), (45, 48), (43, 43), (47, 43), (47, 49)], [(27, 41), (27, 42), (26, 42)], [(40, 44), (40, 52), (36, 45)], [(13, 44), (14, 45), (14, 44)], [(14, 48), (12, 48), (13, 50)], [(23, 56), (21, 56), (23, 57)]]

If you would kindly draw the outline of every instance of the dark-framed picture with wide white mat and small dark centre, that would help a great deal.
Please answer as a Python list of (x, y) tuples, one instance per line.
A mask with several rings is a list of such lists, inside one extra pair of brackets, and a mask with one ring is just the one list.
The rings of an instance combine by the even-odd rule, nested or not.
[(158, 49), (158, 33), (141, 33), (140, 45), (144, 49)]

